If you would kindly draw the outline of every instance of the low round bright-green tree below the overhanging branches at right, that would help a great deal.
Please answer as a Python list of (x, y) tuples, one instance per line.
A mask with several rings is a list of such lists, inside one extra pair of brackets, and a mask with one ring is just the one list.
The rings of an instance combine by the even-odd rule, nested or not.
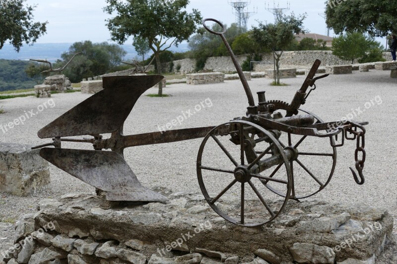
[(332, 41), (332, 53), (344, 60), (354, 60), (361, 58), (366, 52), (380, 48), (381, 44), (373, 37), (365, 36), (360, 32), (345, 33)]

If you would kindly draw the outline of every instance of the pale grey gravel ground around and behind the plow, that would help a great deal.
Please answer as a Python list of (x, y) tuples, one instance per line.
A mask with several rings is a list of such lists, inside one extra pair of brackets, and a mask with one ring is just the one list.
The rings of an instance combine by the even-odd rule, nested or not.
[[(269, 79), (253, 79), (249, 82), (253, 94), (266, 90), (267, 100), (290, 102), (296, 90), (302, 85), (304, 76), (283, 79), (289, 84), (284, 87), (271, 87)], [(366, 134), (367, 160), (364, 168), (366, 183), (357, 185), (349, 166), (354, 164), (355, 143), (338, 149), (338, 163), (330, 185), (309, 198), (330, 203), (363, 203), (369, 206), (385, 207), (397, 217), (397, 177), (396, 177), (396, 141), (393, 140), (397, 130), (396, 79), (390, 78), (389, 71), (369, 73), (353, 72), (349, 75), (331, 75), (319, 80), (316, 91), (312, 92), (305, 109), (310, 110), (325, 121), (338, 120), (360, 107), (364, 110), (356, 120), (369, 121)], [(156, 93), (150, 89), (147, 93)], [(149, 98), (142, 96), (126, 120), (124, 134), (138, 134), (157, 131), (158, 126), (176, 119), (182, 111), (192, 110), (203, 102), (205, 106), (181, 125), (173, 129), (218, 125), (234, 117), (244, 116), (247, 99), (238, 80), (225, 81), (220, 84), (188, 86), (173, 84), (165, 88), (168, 98)], [(66, 112), (72, 106), (87, 99), (89, 95), (55, 94), (51, 98), (54, 107), (48, 107), (31, 117), (24, 125), (16, 126), (3, 133), (3, 142), (39, 145), (50, 140), (41, 140), (37, 131)], [(212, 106), (205, 104), (210, 99)], [(379, 100), (381, 99), (381, 100)], [(374, 105), (371, 104), (371, 100)], [(377, 100), (377, 101), (376, 101)], [(381, 101), (381, 103), (380, 103)], [(0, 124), (5, 124), (24, 111), (37, 109), (49, 99), (34, 97), (1, 100), (5, 113), (0, 114)], [(366, 105), (367, 103), (367, 105)], [(369, 106), (368, 109), (365, 106)], [(52, 104), (51, 104), (52, 105)], [(84, 114), (84, 113), (81, 113)], [(125, 157), (143, 185), (153, 187), (165, 186), (176, 190), (199, 190), (196, 175), (196, 158), (201, 140), (142, 146), (127, 149)], [(87, 145), (64, 144), (66, 148), (85, 148)], [(321, 169), (322, 164), (313, 164)], [(68, 175), (51, 165), (51, 186), (43, 193), (29, 197), (15, 197), (0, 193), (0, 252), (11, 245), (13, 222), (25, 213), (34, 212), (37, 202), (43, 198), (55, 198), (66, 193), (94, 192), (94, 188)], [(395, 229), (396, 230), (396, 229)]]

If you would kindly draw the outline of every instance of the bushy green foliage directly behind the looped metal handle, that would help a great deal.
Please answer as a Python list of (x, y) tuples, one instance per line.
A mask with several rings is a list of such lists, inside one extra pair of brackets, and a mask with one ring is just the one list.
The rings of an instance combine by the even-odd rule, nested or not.
[[(240, 30), (237, 24), (233, 23), (228, 27), (225, 27), (225, 37), (229, 43), (233, 43), (234, 40), (240, 35)], [(211, 30), (215, 32), (221, 32), (222, 28), (220, 25), (214, 23)], [(208, 57), (212, 56), (229, 56), (226, 50), (225, 44), (221, 38), (217, 35), (211, 34), (204, 28), (200, 28), (199, 32), (189, 39), (189, 48), (192, 50), (191, 57), (196, 59), (196, 71), (202, 70), (205, 66), (205, 62)]]

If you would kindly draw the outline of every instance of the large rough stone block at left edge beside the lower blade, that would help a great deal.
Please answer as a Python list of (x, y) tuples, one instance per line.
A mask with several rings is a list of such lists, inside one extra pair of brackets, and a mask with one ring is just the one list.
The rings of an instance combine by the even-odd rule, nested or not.
[(27, 196), (50, 184), (48, 162), (30, 147), (0, 143), (0, 192)]

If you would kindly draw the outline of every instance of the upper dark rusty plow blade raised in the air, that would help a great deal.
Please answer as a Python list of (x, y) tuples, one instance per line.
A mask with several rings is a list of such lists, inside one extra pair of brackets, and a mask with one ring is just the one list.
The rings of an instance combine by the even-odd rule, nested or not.
[(163, 78), (161, 75), (104, 77), (104, 90), (40, 129), (38, 136), (56, 138), (113, 133), (123, 125), (138, 98)]

